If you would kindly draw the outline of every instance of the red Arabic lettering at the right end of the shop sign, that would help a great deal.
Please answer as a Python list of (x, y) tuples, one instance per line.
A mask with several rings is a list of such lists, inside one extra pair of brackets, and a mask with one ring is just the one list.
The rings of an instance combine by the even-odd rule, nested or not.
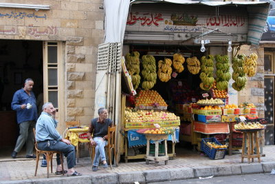
[(206, 25), (225, 26), (225, 27), (241, 27), (245, 24), (245, 17), (239, 15), (225, 14), (219, 16), (211, 16), (206, 19)]

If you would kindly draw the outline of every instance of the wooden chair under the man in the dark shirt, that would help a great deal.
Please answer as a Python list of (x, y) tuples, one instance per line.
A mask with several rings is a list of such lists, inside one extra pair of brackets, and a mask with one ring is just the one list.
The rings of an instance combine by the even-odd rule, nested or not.
[[(118, 162), (116, 161), (117, 156), (116, 156), (116, 152), (115, 152), (115, 128), (116, 128), (116, 126), (108, 127), (108, 144), (105, 146), (105, 149), (107, 148), (109, 165), (110, 165), (111, 169), (113, 169), (113, 167), (111, 165), (111, 151), (112, 150), (113, 150), (113, 154), (115, 156), (114, 157), (115, 158), (115, 165), (118, 165)], [(91, 158), (92, 158), (91, 162), (93, 163), (94, 156), (96, 154), (96, 147), (89, 144), (89, 151), (90, 151), (90, 155), (91, 155)]]

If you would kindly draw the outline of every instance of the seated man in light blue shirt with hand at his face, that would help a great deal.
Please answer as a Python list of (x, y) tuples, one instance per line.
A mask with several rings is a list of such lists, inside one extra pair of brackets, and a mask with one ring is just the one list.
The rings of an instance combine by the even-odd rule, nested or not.
[[(36, 123), (36, 141), (39, 150), (63, 152), (67, 157), (67, 176), (81, 176), (82, 174), (74, 170), (76, 164), (76, 153), (74, 146), (67, 139), (56, 131), (56, 109), (52, 103), (48, 102), (43, 105), (43, 112)], [(56, 174), (62, 174), (61, 159), (56, 155)]]

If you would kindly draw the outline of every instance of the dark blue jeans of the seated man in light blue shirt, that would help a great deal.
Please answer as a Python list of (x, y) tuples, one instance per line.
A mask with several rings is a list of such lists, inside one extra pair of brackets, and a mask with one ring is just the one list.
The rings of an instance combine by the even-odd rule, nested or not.
[[(39, 150), (62, 152), (67, 157), (67, 167), (72, 169), (76, 165), (76, 153), (74, 145), (67, 145), (61, 141), (41, 141), (37, 143)], [(61, 165), (60, 155), (56, 154), (56, 163)]]

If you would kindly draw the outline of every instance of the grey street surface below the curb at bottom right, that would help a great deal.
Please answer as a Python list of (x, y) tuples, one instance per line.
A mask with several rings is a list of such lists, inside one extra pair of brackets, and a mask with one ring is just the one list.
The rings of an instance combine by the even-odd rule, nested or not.
[(220, 176), (212, 178), (195, 178), (187, 180), (178, 180), (178, 181), (165, 181), (157, 182), (150, 184), (214, 184), (214, 183), (223, 183), (223, 184), (232, 184), (232, 183), (241, 183), (241, 184), (271, 184), (274, 183), (275, 174), (245, 174), (245, 175), (235, 175), (235, 176)]

